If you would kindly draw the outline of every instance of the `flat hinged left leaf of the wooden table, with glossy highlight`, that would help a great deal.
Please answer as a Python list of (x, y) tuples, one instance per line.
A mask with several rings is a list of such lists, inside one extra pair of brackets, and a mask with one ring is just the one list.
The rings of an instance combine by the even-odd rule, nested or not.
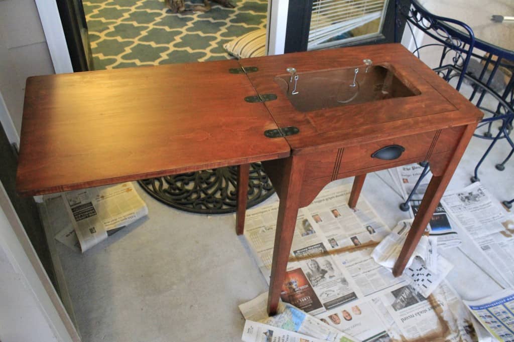
[(237, 61), (27, 80), (17, 191), (40, 195), (287, 157)]

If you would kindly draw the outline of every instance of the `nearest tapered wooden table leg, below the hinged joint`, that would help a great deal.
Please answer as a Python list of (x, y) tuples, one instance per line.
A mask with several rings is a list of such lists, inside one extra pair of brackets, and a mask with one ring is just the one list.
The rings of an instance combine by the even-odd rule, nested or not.
[(305, 160), (301, 157), (284, 159), (284, 180), (279, 192), (279, 213), (268, 294), (268, 313), (270, 315), (277, 312), (282, 283), (286, 275), (287, 261), (298, 216), (304, 167)]

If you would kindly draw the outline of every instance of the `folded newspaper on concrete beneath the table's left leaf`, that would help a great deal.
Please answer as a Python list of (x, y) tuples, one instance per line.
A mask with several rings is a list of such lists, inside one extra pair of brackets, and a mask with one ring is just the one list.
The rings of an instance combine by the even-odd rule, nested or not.
[(107, 232), (148, 215), (131, 182), (70, 191), (63, 198), (72, 229), (60, 231), (56, 239), (82, 253), (106, 239)]

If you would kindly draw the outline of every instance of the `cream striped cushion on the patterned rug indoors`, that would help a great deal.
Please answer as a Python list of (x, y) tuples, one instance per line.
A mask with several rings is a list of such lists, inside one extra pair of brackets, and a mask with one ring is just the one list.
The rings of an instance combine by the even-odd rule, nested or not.
[(223, 45), (236, 58), (259, 57), (266, 54), (266, 29), (248, 32)]

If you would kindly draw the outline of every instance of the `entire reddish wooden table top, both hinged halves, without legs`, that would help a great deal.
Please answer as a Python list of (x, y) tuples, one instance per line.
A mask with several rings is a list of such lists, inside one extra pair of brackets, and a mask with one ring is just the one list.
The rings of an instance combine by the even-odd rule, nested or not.
[[(300, 112), (274, 81), (304, 71), (390, 63), (420, 90)], [(230, 73), (240, 66), (251, 73)], [(249, 103), (248, 96), (277, 99)], [(17, 191), (41, 195), (221, 166), (285, 158), (476, 123), (483, 114), (400, 44), (279, 56), (102, 70), (27, 80)], [(296, 126), (299, 134), (264, 131)]]

